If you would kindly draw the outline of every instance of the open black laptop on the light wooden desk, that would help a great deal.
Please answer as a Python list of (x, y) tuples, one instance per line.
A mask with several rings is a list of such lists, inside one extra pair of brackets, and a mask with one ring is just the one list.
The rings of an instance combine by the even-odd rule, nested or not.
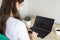
[(53, 23), (54, 19), (36, 16), (35, 23), (30, 29), (37, 32), (38, 37), (44, 38), (51, 32)]

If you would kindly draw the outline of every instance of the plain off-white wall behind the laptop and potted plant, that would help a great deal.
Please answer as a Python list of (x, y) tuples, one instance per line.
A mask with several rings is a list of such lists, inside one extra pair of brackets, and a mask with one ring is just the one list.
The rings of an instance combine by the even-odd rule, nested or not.
[(29, 0), (29, 15), (54, 18), (60, 24), (60, 0)]

